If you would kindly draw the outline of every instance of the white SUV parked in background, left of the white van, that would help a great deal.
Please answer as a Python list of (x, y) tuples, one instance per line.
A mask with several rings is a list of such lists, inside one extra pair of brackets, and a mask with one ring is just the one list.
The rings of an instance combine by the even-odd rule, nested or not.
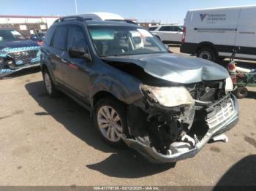
[(181, 44), (183, 35), (183, 26), (181, 25), (151, 26), (149, 31), (165, 44)]

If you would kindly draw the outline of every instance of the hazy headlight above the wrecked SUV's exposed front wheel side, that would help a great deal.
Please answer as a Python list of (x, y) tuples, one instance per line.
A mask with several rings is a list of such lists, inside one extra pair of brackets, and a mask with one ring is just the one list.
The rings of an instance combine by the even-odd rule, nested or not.
[(173, 107), (195, 104), (194, 99), (185, 87), (151, 87), (140, 85), (146, 98), (162, 106)]

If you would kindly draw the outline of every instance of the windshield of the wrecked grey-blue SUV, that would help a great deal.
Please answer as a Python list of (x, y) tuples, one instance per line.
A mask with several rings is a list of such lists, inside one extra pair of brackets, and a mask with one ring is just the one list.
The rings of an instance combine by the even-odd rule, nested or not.
[(89, 31), (100, 56), (168, 52), (159, 39), (136, 26), (89, 26)]

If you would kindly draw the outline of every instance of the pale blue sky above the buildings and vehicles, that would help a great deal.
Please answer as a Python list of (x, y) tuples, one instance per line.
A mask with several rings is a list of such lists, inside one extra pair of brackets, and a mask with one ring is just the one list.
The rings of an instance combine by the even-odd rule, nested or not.
[[(75, 15), (75, 0), (0, 0), (0, 15)], [(113, 12), (139, 22), (183, 23), (189, 9), (256, 4), (256, 0), (77, 0), (78, 13)]]

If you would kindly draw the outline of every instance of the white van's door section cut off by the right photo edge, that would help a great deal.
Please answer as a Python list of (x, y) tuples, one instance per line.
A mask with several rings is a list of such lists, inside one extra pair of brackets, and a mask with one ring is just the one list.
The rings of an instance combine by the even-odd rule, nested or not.
[(256, 7), (246, 7), (241, 9), (238, 22), (238, 33), (236, 46), (241, 47), (237, 54), (241, 58), (256, 59)]

